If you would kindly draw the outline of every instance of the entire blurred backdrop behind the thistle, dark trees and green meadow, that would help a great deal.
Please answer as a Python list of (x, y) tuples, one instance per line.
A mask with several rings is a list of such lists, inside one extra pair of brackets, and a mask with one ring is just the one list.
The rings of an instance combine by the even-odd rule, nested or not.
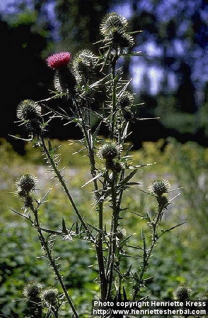
[[(8, 134), (24, 135), (13, 123), (16, 107), (25, 98), (40, 100), (53, 89), (53, 71), (45, 58), (54, 52), (80, 48), (95, 54), (100, 39), (99, 23), (106, 12), (116, 11), (129, 19), (129, 29), (143, 30), (135, 37), (135, 50), (147, 56), (123, 63), (125, 77), (133, 77), (131, 90), (139, 117), (160, 117), (155, 121), (131, 124), (135, 164), (156, 161), (141, 168), (135, 180), (146, 190), (153, 178), (169, 179), (172, 188), (182, 186), (181, 195), (165, 212), (163, 229), (186, 222), (163, 237), (150, 260), (148, 277), (153, 276), (139, 296), (152, 293), (153, 299), (171, 299), (179, 285), (193, 290), (193, 299), (206, 297), (208, 290), (208, 6), (204, 0), (3, 0), (0, 1), (1, 116), (0, 116), (0, 317), (25, 317), (22, 298), (25, 282), (38, 281), (59, 288), (47, 260), (41, 256), (34, 229), (9, 208), (22, 212), (22, 202), (14, 196), (14, 180), (21, 173), (39, 177), (39, 188), (54, 187), (49, 201), (40, 211), (45, 227), (58, 229), (62, 216), (68, 228), (74, 214), (60, 186), (51, 180), (47, 164), (32, 144), (24, 145)], [(63, 101), (61, 101), (63, 102)], [(99, 103), (95, 107), (99, 107)], [(58, 121), (50, 127), (49, 137), (61, 144), (71, 193), (82, 215), (91, 223), (96, 213), (92, 204), (87, 158), (72, 156), (78, 146), (69, 147), (68, 139), (80, 137), (76, 127)], [(105, 134), (105, 131), (103, 131)], [(36, 197), (44, 191), (37, 191)], [(178, 193), (178, 192), (177, 192)], [(177, 194), (176, 193), (176, 194)], [(171, 198), (174, 194), (171, 195)], [(133, 189), (126, 194), (124, 206), (139, 214), (152, 213), (155, 202)], [(61, 211), (61, 212), (60, 212)], [(108, 214), (105, 216), (108, 222)], [(142, 244), (140, 228), (149, 241), (145, 223), (124, 212), (121, 227), (132, 237), (133, 245)], [(128, 251), (133, 253), (135, 251)], [(89, 244), (56, 240), (55, 253), (62, 255), (62, 274), (81, 317), (88, 317), (90, 301), (97, 295), (96, 263)], [(138, 259), (125, 259), (123, 267), (136, 269)], [(61, 290), (60, 290), (61, 292)], [(131, 293), (127, 287), (128, 295)], [(208, 296), (208, 295), (207, 295)], [(3, 316), (4, 315), (4, 316)], [(63, 313), (63, 316), (65, 314)], [(69, 317), (68, 314), (64, 317)]]

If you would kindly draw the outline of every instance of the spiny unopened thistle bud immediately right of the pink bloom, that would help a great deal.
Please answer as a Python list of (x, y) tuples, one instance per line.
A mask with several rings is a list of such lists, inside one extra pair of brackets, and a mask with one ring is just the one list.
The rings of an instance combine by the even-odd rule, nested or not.
[(72, 67), (78, 77), (89, 77), (96, 64), (96, 56), (90, 50), (79, 51), (72, 62)]

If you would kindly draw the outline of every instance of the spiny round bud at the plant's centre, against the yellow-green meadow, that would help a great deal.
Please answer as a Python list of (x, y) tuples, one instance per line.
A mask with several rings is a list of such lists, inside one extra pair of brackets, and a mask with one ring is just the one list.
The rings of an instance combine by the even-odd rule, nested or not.
[(97, 156), (100, 159), (111, 160), (118, 158), (122, 150), (123, 147), (121, 145), (117, 145), (116, 143), (105, 143), (99, 148)]

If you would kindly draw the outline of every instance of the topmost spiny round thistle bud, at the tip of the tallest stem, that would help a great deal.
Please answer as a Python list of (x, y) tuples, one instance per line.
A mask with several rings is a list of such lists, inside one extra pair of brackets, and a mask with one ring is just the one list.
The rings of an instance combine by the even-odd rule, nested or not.
[(124, 16), (115, 12), (108, 13), (104, 16), (100, 23), (100, 33), (108, 36), (109, 32), (114, 28), (124, 33), (127, 29), (128, 22)]

